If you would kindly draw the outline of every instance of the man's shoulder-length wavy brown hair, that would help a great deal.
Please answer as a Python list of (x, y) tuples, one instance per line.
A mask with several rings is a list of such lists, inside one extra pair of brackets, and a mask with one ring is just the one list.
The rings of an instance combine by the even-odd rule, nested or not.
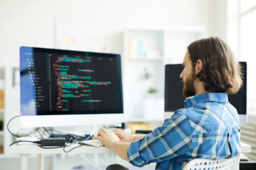
[(236, 93), (242, 86), (241, 66), (229, 45), (219, 37), (196, 40), (187, 47), (192, 66), (198, 59), (203, 62), (197, 75), (207, 92)]

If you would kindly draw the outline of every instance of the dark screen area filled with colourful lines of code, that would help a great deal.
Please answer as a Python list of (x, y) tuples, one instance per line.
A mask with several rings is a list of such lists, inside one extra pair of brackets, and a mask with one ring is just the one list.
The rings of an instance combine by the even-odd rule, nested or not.
[(37, 115), (120, 113), (116, 57), (34, 52), (26, 62)]

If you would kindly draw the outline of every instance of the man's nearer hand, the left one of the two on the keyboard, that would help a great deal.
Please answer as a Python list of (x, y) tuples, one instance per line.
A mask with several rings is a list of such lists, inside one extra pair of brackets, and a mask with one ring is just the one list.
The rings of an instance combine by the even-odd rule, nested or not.
[(93, 136), (92, 139), (101, 141), (106, 148), (112, 148), (114, 142), (120, 141), (119, 137), (113, 132), (101, 128), (97, 136)]

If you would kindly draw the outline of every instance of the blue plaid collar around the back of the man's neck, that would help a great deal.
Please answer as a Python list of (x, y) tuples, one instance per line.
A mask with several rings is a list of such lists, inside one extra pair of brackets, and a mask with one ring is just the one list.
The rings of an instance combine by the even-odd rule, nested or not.
[(186, 98), (184, 101), (185, 108), (193, 107), (199, 103), (205, 102), (222, 102), (227, 103), (227, 93), (203, 93)]

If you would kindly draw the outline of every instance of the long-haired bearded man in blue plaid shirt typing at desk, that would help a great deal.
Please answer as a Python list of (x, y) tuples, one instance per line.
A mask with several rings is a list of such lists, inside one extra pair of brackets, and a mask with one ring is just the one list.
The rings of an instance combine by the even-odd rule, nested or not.
[(183, 66), (185, 107), (161, 127), (145, 136), (101, 129), (93, 138), (134, 166), (157, 162), (156, 169), (182, 169), (195, 158), (239, 155), (239, 117), (227, 93), (240, 89), (242, 74), (228, 44), (218, 37), (194, 41), (187, 47)]

